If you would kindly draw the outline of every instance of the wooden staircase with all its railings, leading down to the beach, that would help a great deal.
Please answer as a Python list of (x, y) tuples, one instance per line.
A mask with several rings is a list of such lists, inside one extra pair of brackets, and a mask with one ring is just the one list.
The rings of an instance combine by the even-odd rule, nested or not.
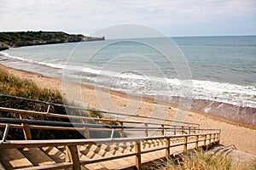
[[(11, 98), (16, 99), (14, 96)], [(36, 100), (33, 102), (42, 103)], [(60, 106), (53, 103), (45, 104)], [(76, 109), (81, 110), (81, 108)], [(82, 110), (86, 111), (83, 108)], [(0, 117), (0, 127), (5, 128), (3, 139), (0, 141), (0, 169), (8, 170), (142, 169), (148, 166), (148, 162), (170, 158), (201, 146), (207, 148), (212, 144), (218, 144), (220, 137), (220, 130), (200, 129), (195, 123), (146, 116), (136, 116), (133, 117), (135, 120), (132, 120), (127, 119), (129, 115), (106, 111), (102, 113), (115, 114), (116, 118), (68, 116), (49, 111), (26, 111), (1, 106), (0, 111), (20, 117), (20, 119)], [(31, 116), (68, 118), (83, 123), (32, 120), (29, 119)], [(122, 118), (117, 119), (118, 116)], [(89, 124), (89, 121), (102, 124)], [(105, 122), (118, 125), (112, 126), (104, 124)], [(74, 124), (78, 127), (73, 127)], [(22, 128), (26, 140), (6, 140), (9, 128)], [(31, 129), (53, 129), (60, 132), (64, 130), (71, 133), (79, 130), (84, 133), (86, 139), (32, 140)], [(108, 139), (90, 139), (90, 132), (99, 131), (112, 133)], [(114, 132), (119, 133), (119, 137), (113, 138)], [(136, 135), (131, 136), (135, 133)]]

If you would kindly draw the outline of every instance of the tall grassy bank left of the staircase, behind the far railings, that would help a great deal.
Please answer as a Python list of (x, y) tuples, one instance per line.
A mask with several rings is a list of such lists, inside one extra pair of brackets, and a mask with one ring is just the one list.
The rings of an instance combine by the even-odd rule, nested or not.
[[(50, 91), (49, 89), (38, 88), (38, 86), (27, 80), (22, 80), (18, 77), (9, 75), (6, 71), (0, 70), (0, 94), (9, 94), (19, 97), (24, 97), (27, 99), (38, 99), (46, 102), (53, 102), (62, 104), (61, 94), (58, 91)], [(30, 101), (24, 101), (20, 99), (7, 99), (0, 98), (0, 103), (2, 107), (9, 107), (15, 109), (23, 109), (29, 111), (47, 111), (48, 105), (34, 103)], [(66, 110), (64, 107), (51, 106), (50, 113), (58, 113), (66, 115)], [(95, 116), (102, 117), (102, 115), (97, 111), (78, 111), (71, 110), (73, 115), (83, 115), (83, 116)], [(15, 117), (19, 116), (14, 113), (9, 113), (5, 111), (0, 111), (0, 116), (2, 117)], [(55, 118), (49, 116), (28, 116), (29, 119), (36, 120), (49, 120), (49, 121), (61, 121), (61, 122), (70, 122), (69, 119)], [(81, 122), (78, 120), (78, 122)], [(96, 123), (90, 121), (90, 123)], [(3, 128), (0, 128), (0, 136), (3, 136)], [(37, 130), (32, 129), (32, 138), (33, 139), (83, 139), (84, 137), (76, 131), (55, 131), (55, 130)], [(116, 133), (115, 135), (119, 135)], [(90, 133), (92, 138), (99, 137), (109, 137), (110, 132), (99, 132), (99, 133)], [(23, 132), (21, 129), (11, 128), (9, 130), (8, 139), (24, 139)]]

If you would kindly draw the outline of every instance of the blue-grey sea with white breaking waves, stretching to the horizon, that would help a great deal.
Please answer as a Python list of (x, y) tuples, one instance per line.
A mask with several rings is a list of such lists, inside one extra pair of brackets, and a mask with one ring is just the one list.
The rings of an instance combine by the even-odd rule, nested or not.
[(165, 41), (152, 37), (10, 48), (0, 53), (0, 64), (127, 94), (256, 108), (255, 36)]

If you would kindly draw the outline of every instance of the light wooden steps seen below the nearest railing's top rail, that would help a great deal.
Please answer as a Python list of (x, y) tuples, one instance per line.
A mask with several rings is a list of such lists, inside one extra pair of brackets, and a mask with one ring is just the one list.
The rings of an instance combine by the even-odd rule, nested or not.
[[(173, 146), (171, 147), (172, 155), (183, 151), (184, 144), (181, 138), (173, 138), (170, 140), (170, 145)], [(100, 142), (95, 144), (76, 145), (79, 162), (81, 163), (79, 164), (80, 168), (136, 168), (138, 150), (136, 148), (136, 142), (133, 142), (132, 140), (133, 139), (124, 142), (113, 141), (106, 144)], [(166, 140), (166, 138), (158, 137), (142, 139), (140, 142), (141, 164), (143, 165), (150, 161), (165, 158)], [(209, 139), (207, 140), (209, 141)], [(137, 141), (137, 139), (134, 139), (134, 141)], [(194, 139), (191, 138), (189, 141), (192, 142)], [(217, 142), (216, 139), (212, 139), (212, 142), (214, 141)], [(26, 142), (28, 144), (27, 147), (23, 147), (23, 145), (26, 146)], [(73, 161), (70, 160), (67, 154), (67, 145), (65, 145), (65, 142), (66, 141), (63, 140), (64, 144), (55, 144), (56, 146), (31, 147), (29, 141), (22, 141), (21, 143), (16, 144), (16, 148), (13, 148), (15, 146), (14, 144), (10, 148), (8, 144), (3, 144), (4, 146), (2, 145), (2, 148), (6, 146), (6, 149), (1, 149), (0, 147), (0, 162), (2, 164), (2, 169), (73, 169)], [(73, 140), (73, 142), (76, 143), (76, 140)], [(199, 146), (203, 145), (204, 141), (199, 142)], [(195, 145), (190, 144), (186, 150), (192, 148), (195, 148)]]

